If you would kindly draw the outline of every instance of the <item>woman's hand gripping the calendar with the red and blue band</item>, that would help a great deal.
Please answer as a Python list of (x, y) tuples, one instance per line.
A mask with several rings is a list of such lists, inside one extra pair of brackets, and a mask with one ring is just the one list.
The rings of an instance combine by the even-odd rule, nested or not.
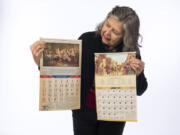
[(33, 58), (35, 63), (39, 66), (40, 57), (42, 52), (44, 51), (46, 42), (44, 41), (36, 41), (34, 44), (30, 46)]

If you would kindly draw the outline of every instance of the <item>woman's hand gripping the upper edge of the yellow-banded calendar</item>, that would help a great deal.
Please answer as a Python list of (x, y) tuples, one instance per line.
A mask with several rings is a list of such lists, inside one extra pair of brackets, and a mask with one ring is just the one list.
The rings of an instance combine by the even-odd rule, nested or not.
[(136, 58), (132, 58), (130, 60), (130, 66), (137, 76), (144, 70), (144, 62)]

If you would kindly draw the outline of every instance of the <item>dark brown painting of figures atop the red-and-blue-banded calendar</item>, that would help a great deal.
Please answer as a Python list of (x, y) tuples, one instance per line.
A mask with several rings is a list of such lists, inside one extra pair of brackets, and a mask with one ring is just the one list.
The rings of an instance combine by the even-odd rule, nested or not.
[(47, 44), (43, 53), (43, 66), (78, 67), (79, 46), (76, 44)]

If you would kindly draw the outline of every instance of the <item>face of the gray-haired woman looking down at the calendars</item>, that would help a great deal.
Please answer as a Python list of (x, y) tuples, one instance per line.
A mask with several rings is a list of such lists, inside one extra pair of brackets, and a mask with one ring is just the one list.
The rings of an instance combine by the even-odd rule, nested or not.
[(101, 30), (102, 42), (114, 48), (123, 38), (123, 22), (116, 20), (114, 17), (109, 17)]

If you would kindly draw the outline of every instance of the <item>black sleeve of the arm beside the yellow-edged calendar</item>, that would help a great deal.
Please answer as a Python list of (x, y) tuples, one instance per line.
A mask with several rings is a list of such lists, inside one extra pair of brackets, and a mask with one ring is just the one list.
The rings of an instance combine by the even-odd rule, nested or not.
[[(141, 59), (141, 56), (137, 55), (136, 58)], [(146, 91), (147, 87), (148, 87), (147, 79), (144, 75), (144, 71), (142, 71), (141, 74), (136, 77), (137, 95), (141, 96)]]

